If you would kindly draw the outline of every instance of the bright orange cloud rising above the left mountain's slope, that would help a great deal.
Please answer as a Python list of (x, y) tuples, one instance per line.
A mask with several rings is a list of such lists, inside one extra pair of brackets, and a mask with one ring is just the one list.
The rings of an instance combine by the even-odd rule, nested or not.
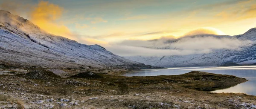
[(63, 11), (64, 9), (58, 5), (47, 1), (40, 1), (30, 13), (30, 20), (46, 32), (70, 39), (76, 39), (73, 37), (73, 33), (70, 32), (70, 29), (68, 29), (67, 26), (57, 23), (57, 20), (61, 17)]

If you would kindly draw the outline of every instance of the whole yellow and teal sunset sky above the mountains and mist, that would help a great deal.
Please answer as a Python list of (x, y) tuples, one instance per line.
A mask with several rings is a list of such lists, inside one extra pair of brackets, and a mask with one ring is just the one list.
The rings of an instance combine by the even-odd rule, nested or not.
[(127, 40), (238, 35), (256, 27), (256, 0), (0, 0), (0, 9), (110, 50)]

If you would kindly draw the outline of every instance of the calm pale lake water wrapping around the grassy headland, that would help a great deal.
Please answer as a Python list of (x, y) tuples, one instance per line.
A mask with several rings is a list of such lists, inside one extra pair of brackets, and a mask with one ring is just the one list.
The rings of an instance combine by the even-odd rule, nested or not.
[(157, 75), (180, 75), (191, 71), (203, 71), (215, 74), (235, 75), (246, 78), (247, 82), (236, 86), (215, 90), (212, 92), (233, 92), (256, 95), (256, 66), (229, 66), (229, 67), (176, 67), (168, 69), (145, 69), (124, 74), (123, 76), (157, 76)]

